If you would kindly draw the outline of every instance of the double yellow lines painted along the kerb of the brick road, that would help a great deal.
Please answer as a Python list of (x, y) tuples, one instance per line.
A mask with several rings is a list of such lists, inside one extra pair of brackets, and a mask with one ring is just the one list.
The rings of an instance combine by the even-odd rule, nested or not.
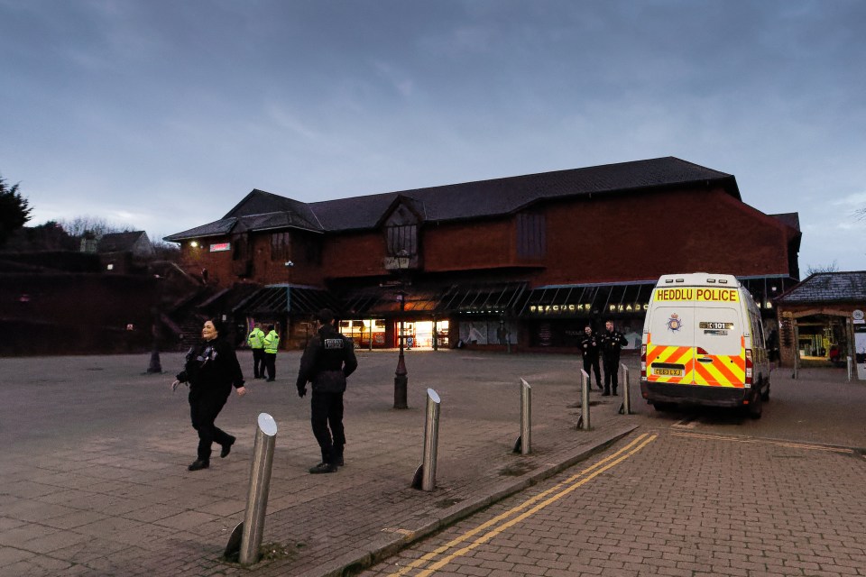
[[(494, 536), (499, 535), (505, 529), (520, 523), (522, 520), (524, 520), (528, 517), (531, 517), (532, 515), (538, 513), (541, 509), (548, 507), (548, 505), (555, 503), (559, 499), (562, 499), (568, 493), (571, 493), (572, 491), (583, 486), (585, 483), (592, 481), (596, 476), (598, 476), (598, 475), (602, 474), (603, 472), (607, 471), (608, 469), (612, 469), (614, 466), (622, 463), (623, 461), (625, 461), (626, 459), (631, 457), (631, 455), (638, 453), (642, 448), (647, 446), (647, 444), (650, 444), (658, 436), (659, 435), (647, 435), (645, 433), (642, 435), (639, 435), (637, 438), (635, 438), (633, 441), (631, 441), (631, 443), (625, 445), (624, 447), (622, 447), (622, 449), (620, 449), (616, 453), (613, 453), (611, 455), (608, 455), (607, 457), (604, 457), (598, 463), (595, 463), (594, 465), (587, 467), (582, 472), (579, 472), (575, 475), (572, 475), (566, 481), (562, 481), (560, 483), (557, 483), (557, 485), (554, 485), (550, 489), (542, 491), (541, 493), (539, 493), (535, 497), (531, 497), (530, 499), (526, 499), (517, 507), (511, 508), (502, 514), (497, 515), (496, 517), (493, 517), (489, 521), (486, 521), (486, 522), (482, 523), (481, 525), (479, 525), (478, 527), (475, 527), (474, 529), (471, 529), (471, 530), (465, 532), (461, 536), (457, 536), (455, 539), (449, 541), (447, 544), (438, 547), (438, 549), (436, 549), (435, 551), (432, 551), (428, 554), (425, 554), (424, 556), (420, 557), (419, 559), (417, 559), (417, 560), (413, 561), (412, 563), (406, 565), (405, 567), (401, 568), (400, 571), (391, 573), (392, 577), (398, 577), (400, 575), (406, 574), (407, 572), (410, 572), (412, 569), (417, 569), (417, 568), (421, 567), (422, 565), (424, 565), (425, 563), (432, 561), (438, 555), (446, 553), (449, 549), (454, 548), (456, 545), (460, 545), (464, 541), (472, 538), (473, 536), (478, 535), (482, 531), (484, 531), (490, 527), (494, 527), (493, 529), (491, 529), (487, 533), (484, 533), (484, 535), (479, 536), (477, 539), (475, 539), (469, 545), (465, 545), (463, 548), (456, 550), (453, 554), (449, 554), (446, 557), (443, 557), (437, 563), (434, 563), (434, 564), (430, 565), (427, 569), (419, 572), (416, 575), (416, 577), (427, 577), (428, 575), (433, 574), (433, 572), (436, 572), (438, 569), (441, 569), (442, 567), (447, 565), (447, 563), (450, 563), (451, 561), (453, 561), (457, 557), (461, 557), (461, 556), (469, 553), (470, 551), (472, 551), (474, 548), (476, 548), (480, 545), (484, 545), (484, 543), (490, 541), (491, 539), (493, 539)], [(565, 489), (562, 489), (563, 487), (565, 487)], [(559, 492), (556, 492), (556, 491), (559, 491)], [(551, 493), (556, 493), (556, 494), (554, 494), (552, 497), (548, 498), (548, 495), (550, 495)], [(547, 499), (545, 499), (545, 498), (547, 498)], [(541, 499), (545, 499), (545, 500), (541, 500)], [(539, 501), (541, 501), (541, 502), (539, 503)], [(530, 505), (533, 505), (535, 503), (538, 503), (538, 504), (532, 508), (529, 508)], [(529, 508), (529, 509), (525, 510), (523, 513), (521, 513), (517, 517), (513, 517), (513, 518), (511, 518), (511, 520), (505, 521), (505, 519), (507, 519), (508, 517), (511, 517), (512, 515), (520, 512), (523, 509), (527, 509), (527, 508)], [(505, 522), (503, 522), (502, 525), (498, 525), (498, 527), (497, 527), (497, 524), (499, 524), (502, 521), (505, 521)]]

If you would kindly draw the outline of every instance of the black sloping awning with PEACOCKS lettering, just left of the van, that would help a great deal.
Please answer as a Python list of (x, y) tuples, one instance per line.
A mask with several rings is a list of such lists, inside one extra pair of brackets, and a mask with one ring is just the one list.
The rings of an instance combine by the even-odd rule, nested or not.
[(643, 313), (655, 281), (560, 285), (530, 290), (521, 316), (596, 316)]

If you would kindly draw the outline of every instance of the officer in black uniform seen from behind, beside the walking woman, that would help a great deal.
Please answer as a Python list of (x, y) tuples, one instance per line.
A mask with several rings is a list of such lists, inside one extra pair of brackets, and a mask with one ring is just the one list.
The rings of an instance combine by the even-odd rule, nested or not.
[(316, 320), (318, 338), (307, 343), (296, 383), (299, 397), (307, 394), (307, 383), (313, 383), (310, 422), (322, 450), (322, 462), (309, 470), (314, 474), (336, 472), (343, 464), (345, 380), (358, 368), (355, 343), (336, 331), (334, 313), (323, 308)]

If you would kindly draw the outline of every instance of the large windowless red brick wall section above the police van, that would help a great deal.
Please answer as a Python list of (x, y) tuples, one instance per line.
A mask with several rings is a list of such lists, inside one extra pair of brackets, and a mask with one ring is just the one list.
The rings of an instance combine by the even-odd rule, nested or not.
[(775, 219), (721, 189), (608, 197), (547, 206), (539, 285), (656, 279), (670, 272), (788, 273)]

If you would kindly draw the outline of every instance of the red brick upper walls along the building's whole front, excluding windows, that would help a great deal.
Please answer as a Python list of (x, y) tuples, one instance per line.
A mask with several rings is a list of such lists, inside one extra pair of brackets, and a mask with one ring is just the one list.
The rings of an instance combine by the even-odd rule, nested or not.
[[(742, 204), (721, 188), (670, 190), (609, 195), (548, 203), (536, 210), (546, 215), (547, 257), (516, 259), (516, 224), (512, 215), (496, 219), (421, 228), (423, 272), (484, 270), (515, 265), (526, 269), (534, 286), (656, 279), (670, 272), (708, 271), (741, 276), (788, 274), (790, 229), (776, 219)], [(268, 284), (290, 280), (321, 286), (324, 279), (387, 275), (382, 231), (327, 235), (321, 266), (306, 261), (304, 243), (318, 236), (293, 233), (289, 271), (282, 259), (272, 261), (270, 233), (253, 234), (252, 275)], [(241, 280), (233, 252), (208, 252), (207, 239), (198, 249), (184, 243), (182, 263), (192, 273), (207, 269), (212, 283), (230, 286)]]

